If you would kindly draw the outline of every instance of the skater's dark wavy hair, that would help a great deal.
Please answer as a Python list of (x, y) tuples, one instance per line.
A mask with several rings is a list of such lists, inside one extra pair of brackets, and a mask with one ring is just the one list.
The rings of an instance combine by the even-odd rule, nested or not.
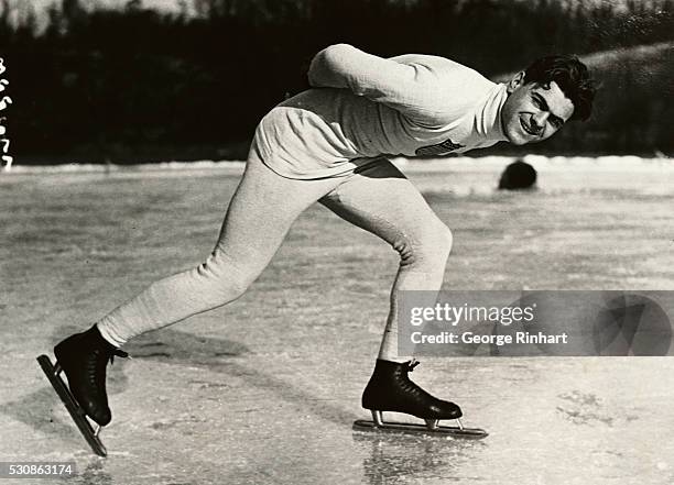
[(572, 120), (587, 120), (593, 111), (597, 88), (587, 66), (572, 55), (545, 56), (534, 60), (524, 71), (524, 82), (548, 85), (555, 81), (574, 103)]

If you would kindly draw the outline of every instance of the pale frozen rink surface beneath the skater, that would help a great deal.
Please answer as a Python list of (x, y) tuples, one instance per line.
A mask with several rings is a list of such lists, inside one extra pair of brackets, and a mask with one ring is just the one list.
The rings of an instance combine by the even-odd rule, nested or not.
[[(674, 290), (672, 161), (526, 161), (537, 191), (494, 190), (512, 158), (402, 164), (454, 231), (445, 289)], [(78, 484), (674, 483), (668, 357), (425, 359), (412, 378), (490, 436), (352, 431), (398, 261), (318, 205), (240, 300), (126, 348), (95, 456), (35, 356), (198, 264), (241, 169), (111, 168), (0, 174), (0, 461), (74, 460)]]

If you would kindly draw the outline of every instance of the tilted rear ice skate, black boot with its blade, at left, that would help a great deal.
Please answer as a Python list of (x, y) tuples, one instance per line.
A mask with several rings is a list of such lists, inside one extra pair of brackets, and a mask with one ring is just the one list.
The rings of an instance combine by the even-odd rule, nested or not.
[[(105, 456), (106, 448), (98, 434), (112, 418), (106, 394), (106, 366), (116, 355), (128, 354), (108, 343), (93, 327), (58, 343), (54, 355), (54, 365), (47, 355), (40, 355), (37, 362), (94, 452)], [(66, 375), (67, 387), (61, 372)], [(87, 417), (96, 423), (96, 429)]]

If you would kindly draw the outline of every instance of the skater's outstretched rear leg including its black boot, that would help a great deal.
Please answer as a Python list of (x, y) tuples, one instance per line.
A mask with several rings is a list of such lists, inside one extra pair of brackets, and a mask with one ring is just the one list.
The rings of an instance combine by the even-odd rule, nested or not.
[(101, 426), (110, 421), (106, 365), (113, 355), (123, 355), (118, 346), (241, 296), (272, 258), (297, 216), (341, 181), (283, 178), (252, 151), (217, 245), (206, 262), (153, 283), (94, 328), (54, 349), (84, 412)]

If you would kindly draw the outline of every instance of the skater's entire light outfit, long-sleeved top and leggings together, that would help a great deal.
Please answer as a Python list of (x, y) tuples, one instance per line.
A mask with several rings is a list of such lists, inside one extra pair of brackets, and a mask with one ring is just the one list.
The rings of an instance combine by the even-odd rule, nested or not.
[(315, 89), (260, 122), (213, 253), (105, 316), (106, 340), (120, 346), (240, 297), (293, 221), (320, 201), (400, 254), (379, 354), (395, 359), (398, 291), (441, 288), (452, 233), (385, 155), (442, 156), (503, 140), (506, 86), (442, 57), (384, 59), (345, 44), (318, 53), (308, 77)]

